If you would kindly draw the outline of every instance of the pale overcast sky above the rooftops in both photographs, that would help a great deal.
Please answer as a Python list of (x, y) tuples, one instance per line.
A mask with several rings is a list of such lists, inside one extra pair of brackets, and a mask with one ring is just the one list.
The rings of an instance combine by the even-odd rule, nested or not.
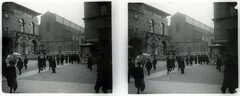
[[(114, 1), (114, 0), (113, 0)], [(126, 0), (127, 1), (127, 0)], [(142, 0), (143, 1), (143, 0)], [(211, 0), (212, 1), (212, 0)], [(14, 1), (16, 2), (16, 1)], [(33, 9), (41, 14), (46, 13), (48, 10), (52, 13), (56, 13), (82, 27), (84, 27), (84, 4), (83, 1), (78, 2), (26, 2), (19, 0), (16, 2), (25, 7)], [(144, 3), (151, 5), (155, 8), (158, 8), (162, 11), (170, 13), (174, 15), (176, 12), (180, 12), (186, 14), (210, 27), (214, 27), (213, 25), (213, 2), (205, 1), (205, 2), (158, 2), (153, 0), (145, 0)], [(127, 13), (127, 12), (126, 12)], [(171, 16), (168, 16), (170, 20)], [(39, 17), (40, 18), (40, 17)], [(40, 23), (40, 21), (39, 21)], [(170, 22), (168, 22), (170, 24)]]

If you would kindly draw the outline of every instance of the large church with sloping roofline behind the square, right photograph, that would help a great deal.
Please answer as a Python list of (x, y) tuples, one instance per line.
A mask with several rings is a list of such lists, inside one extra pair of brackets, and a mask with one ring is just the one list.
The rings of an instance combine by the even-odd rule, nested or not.
[(208, 54), (214, 29), (182, 13), (171, 17), (170, 36), (178, 55)]

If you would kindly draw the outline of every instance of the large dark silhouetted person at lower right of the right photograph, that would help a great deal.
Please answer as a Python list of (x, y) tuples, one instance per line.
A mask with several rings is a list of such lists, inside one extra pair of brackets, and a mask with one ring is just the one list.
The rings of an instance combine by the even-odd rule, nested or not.
[(231, 59), (230, 53), (224, 54), (224, 79), (221, 87), (222, 93), (226, 93), (228, 88), (229, 93), (236, 93), (238, 88), (238, 64)]

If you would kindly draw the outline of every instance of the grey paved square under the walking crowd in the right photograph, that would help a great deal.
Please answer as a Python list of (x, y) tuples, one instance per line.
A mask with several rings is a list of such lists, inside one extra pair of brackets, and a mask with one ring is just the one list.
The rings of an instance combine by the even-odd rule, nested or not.
[[(216, 65), (186, 66), (185, 74), (173, 70), (170, 74), (166, 69), (145, 75), (146, 88), (141, 94), (221, 94), (223, 73), (218, 72)], [(128, 83), (128, 93), (136, 94), (134, 80)]]

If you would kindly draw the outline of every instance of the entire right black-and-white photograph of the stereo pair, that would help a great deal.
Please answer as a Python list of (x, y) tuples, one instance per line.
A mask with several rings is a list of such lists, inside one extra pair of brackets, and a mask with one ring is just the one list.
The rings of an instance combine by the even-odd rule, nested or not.
[(233, 94), (237, 2), (128, 2), (129, 94)]

